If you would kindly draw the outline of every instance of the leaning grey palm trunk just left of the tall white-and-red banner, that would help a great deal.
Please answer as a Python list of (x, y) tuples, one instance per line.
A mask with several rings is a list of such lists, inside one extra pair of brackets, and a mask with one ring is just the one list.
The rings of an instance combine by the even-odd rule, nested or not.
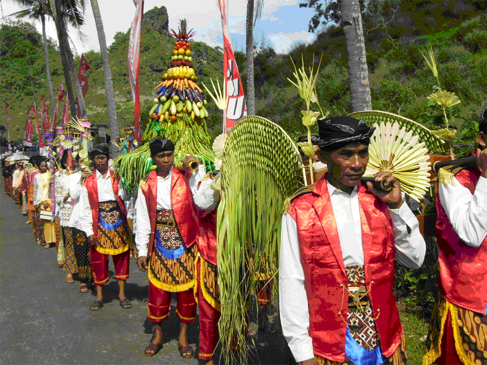
[[(108, 58), (107, 40), (105, 38), (105, 30), (103, 29), (103, 21), (101, 20), (100, 8), (97, 0), (91, 0), (94, 22), (96, 24), (96, 31), (98, 32), (98, 41), (100, 42), (100, 52), (103, 59), (103, 69), (105, 73), (105, 96), (107, 97), (108, 105), (108, 119), (110, 123), (110, 137), (112, 141), (118, 138), (118, 122), (117, 110), (115, 105), (115, 93), (113, 91), (112, 70), (110, 69), (110, 60)], [(119, 148), (111, 144), (112, 158), (119, 154)]]

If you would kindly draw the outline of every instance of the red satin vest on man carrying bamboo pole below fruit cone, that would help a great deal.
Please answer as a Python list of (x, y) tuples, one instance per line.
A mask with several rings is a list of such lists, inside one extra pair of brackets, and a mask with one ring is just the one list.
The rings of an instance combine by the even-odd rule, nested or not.
[[(150, 240), (149, 256), (154, 248), (154, 235), (157, 215), (157, 171), (154, 170), (149, 174), (144, 187), (141, 187), (142, 193), (146, 198), (147, 208), (150, 218)], [(184, 173), (177, 168), (172, 169), (171, 177), (171, 204), (174, 218), (178, 224), (179, 232), (186, 247), (196, 240), (197, 223), (194, 212), (193, 196), (187, 183)]]

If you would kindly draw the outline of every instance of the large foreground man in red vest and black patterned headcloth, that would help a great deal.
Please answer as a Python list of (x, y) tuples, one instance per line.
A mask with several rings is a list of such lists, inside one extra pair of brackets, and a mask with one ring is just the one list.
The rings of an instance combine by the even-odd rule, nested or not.
[(282, 218), (282, 332), (300, 364), (405, 364), (393, 294), (394, 260), (417, 269), (426, 245), (388, 172), (360, 182), (375, 128), (351, 117), (318, 120), (327, 174), (301, 188)]

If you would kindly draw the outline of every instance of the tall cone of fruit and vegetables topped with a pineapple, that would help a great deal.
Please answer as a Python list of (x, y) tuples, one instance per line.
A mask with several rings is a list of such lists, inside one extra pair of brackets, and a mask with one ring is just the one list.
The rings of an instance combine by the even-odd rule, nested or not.
[(151, 169), (149, 141), (156, 137), (169, 138), (175, 145), (175, 165), (187, 155), (198, 157), (206, 171), (215, 169), (215, 153), (211, 149), (210, 136), (205, 119), (208, 117), (203, 90), (197, 85), (198, 76), (193, 69), (193, 58), (189, 38), (194, 36), (192, 29), (187, 31), (186, 19), (180, 20), (171, 63), (162, 82), (157, 85), (149, 115), (149, 124), (142, 136), (142, 144), (136, 150), (119, 156), (113, 167), (121, 176), (122, 185), (129, 191), (136, 191), (140, 179)]

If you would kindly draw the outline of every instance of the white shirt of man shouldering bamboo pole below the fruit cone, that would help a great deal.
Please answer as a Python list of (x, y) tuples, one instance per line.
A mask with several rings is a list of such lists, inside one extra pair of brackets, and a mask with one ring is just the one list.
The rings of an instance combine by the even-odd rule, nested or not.
[[(173, 168), (174, 167), (172, 167), (169, 170), (169, 174), (165, 178), (160, 176), (157, 177), (157, 202), (156, 202), (157, 210), (172, 209), (171, 181), (172, 181)], [(198, 169), (189, 178), (188, 184), (191, 193), (193, 195), (198, 191), (198, 183), (201, 182), (204, 176), (205, 176), (205, 167), (203, 165), (200, 165)], [(136, 216), (135, 220), (137, 221), (137, 224), (135, 226), (135, 231), (134, 231), (135, 244), (137, 245), (139, 257), (147, 256), (147, 251), (148, 251), (147, 249), (148, 249), (150, 233), (151, 233), (150, 218), (149, 218), (149, 211), (147, 209), (146, 198), (140, 188), (137, 194), (137, 201), (135, 202), (135, 216)]]

